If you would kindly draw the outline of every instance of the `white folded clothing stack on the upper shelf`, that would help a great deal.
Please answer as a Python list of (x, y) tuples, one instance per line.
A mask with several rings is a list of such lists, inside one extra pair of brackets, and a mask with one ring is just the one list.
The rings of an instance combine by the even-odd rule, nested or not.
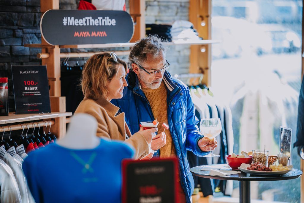
[(194, 29), (191, 22), (186, 20), (176, 20), (171, 27), (172, 41), (199, 41), (202, 37), (199, 37), (198, 32)]

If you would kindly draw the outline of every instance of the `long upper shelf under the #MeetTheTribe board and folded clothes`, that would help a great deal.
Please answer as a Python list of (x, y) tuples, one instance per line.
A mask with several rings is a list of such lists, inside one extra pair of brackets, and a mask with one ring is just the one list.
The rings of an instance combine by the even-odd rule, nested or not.
[[(212, 43), (220, 43), (220, 40), (201, 40), (201, 41), (175, 41), (175, 42), (164, 42), (165, 45), (206, 45)], [(117, 48), (117, 47), (132, 47), (135, 43), (115, 43), (115, 44), (96, 44), (96, 45), (60, 45), (59, 48)], [(35, 48), (51, 48), (55, 47), (52, 45), (40, 45), (40, 44), (26, 44), (25, 47)]]

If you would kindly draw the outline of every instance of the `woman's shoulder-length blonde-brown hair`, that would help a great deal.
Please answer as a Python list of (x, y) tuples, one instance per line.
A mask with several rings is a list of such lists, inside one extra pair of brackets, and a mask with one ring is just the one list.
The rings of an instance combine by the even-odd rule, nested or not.
[(117, 58), (117, 62), (114, 61), (108, 52), (101, 52), (89, 58), (82, 71), (83, 95), (94, 100), (101, 96), (105, 97), (108, 93), (106, 84), (116, 75), (119, 64), (122, 64), (127, 72), (126, 62), (119, 58)]

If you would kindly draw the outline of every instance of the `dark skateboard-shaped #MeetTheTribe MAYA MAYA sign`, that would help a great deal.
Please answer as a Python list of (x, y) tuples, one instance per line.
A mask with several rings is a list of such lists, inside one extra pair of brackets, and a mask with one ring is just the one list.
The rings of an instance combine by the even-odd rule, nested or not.
[(133, 19), (125, 11), (48, 10), (40, 21), (50, 45), (86, 45), (129, 42)]

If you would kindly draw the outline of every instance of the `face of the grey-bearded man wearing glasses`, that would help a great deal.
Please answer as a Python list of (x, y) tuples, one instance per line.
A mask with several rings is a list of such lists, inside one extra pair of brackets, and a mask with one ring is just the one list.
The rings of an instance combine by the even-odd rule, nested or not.
[[(165, 54), (163, 51), (160, 52), (156, 59), (153, 59), (151, 55), (147, 55), (147, 61), (141, 62), (140, 66), (142, 66), (149, 73), (153, 71), (160, 70), (164, 68), (166, 64)], [(134, 73), (136, 73), (138, 80), (142, 87), (157, 89), (161, 85), (161, 81), (163, 80), (164, 72), (151, 73), (150, 75), (146, 73), (143, 69), (141, 69), (137, 64), (132, 64)]]

